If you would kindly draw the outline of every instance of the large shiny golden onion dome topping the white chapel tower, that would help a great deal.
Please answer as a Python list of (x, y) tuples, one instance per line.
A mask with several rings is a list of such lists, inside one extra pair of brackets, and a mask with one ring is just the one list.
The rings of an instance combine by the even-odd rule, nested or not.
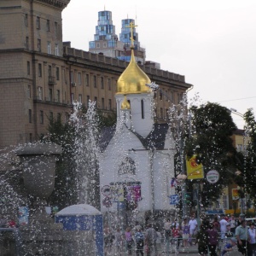
[(133, 49), (131, 49), (131, 61), (117, 81), (116, 94), (147, 93), (150, 89), (146, 84), (150, 83), (151, 81), (147, 74), (138, 67)]

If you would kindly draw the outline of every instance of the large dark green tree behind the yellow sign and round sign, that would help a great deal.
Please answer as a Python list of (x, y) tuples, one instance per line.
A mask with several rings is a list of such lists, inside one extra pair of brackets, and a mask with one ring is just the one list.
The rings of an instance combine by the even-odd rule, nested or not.
[[(192, 136), (187, 138), (186, 151), (188, 158), (195, 154), (196, 161), (204, 166), (201, 201), (208, 205), (211, 201), (216, 201), (224, 186), (232, 182), (240, 164), (230, 138), (236, 125), (230, 110), (217, 103), (207, 102), (200, 107), (192, 106), (190, 113)], [(207, 182), (206, 175), (211, 170), (219, 172), (218, 183)]]

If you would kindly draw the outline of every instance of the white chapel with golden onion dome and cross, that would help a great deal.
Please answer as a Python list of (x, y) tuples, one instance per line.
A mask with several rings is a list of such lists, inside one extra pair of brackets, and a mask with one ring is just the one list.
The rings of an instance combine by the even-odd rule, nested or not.
[(154, 93), (146, 85), (151, 81), (133, 51), (131, 40), (131, 61), (117, 82), (117, 125), (102, 135), (100, 157), (101, 212), (129, 223), (142, 222), (147, 212), (172, 212), (170, 195), (175, 194), (170, 128), (154, 124)]

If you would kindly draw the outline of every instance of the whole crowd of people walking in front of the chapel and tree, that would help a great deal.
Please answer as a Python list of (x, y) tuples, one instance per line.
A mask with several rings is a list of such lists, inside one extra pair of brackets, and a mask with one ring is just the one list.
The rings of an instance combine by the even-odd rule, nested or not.
[(200, 225), (192, 215), (181, 222), (167, 218), (162, 227), (135, 224), (123, 232), (119, 228), (110, 232), (105, 227), (104, 241), (106, 252), (111, 255), (132, 255), (135, 251), (136, 255), (158, 256), (163, 249), (169, 252), (171, 245), (183, 251), (197, 245), (199, 255), (224, 256), (237, 246), (242, 255), (256, 256), (254, 223), (247, 223), (241, 216), (235, 218), (234, 215), (203, 218)]

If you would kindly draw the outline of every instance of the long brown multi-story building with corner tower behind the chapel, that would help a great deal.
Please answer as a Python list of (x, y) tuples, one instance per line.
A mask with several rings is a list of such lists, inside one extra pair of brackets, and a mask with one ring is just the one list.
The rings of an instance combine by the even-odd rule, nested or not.
[[(73, 101), (96, 101), (105, 113), (116, 109), (116, 82), (128, 62), (62, 43), (61, 12), (69, 2), (0, 2), (0, 148), (37, 140), (49, 118), (68, 118)], [(160, 85), (155, 109), (164, 121), (191, 84), (183, 75), (141, 68)]]

